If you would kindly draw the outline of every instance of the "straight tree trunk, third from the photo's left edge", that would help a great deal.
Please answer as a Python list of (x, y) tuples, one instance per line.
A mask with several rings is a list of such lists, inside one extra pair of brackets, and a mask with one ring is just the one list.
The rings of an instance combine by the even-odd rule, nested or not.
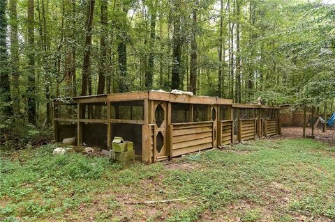
[(28, 0), (28, 60), (29, 60), (29, 76), (28, 76), (28, 121), (36, 125), (36, 98), (35, 98), (35, 38), (34, 38), (34, 0)]

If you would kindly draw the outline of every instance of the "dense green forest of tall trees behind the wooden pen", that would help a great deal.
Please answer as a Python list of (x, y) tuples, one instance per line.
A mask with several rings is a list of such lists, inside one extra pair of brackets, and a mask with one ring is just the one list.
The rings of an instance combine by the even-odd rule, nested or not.
[(50, 125), (53, 97), (134, 90), (333, 106), (335, 6), (0, 0), (0, 77), (5, 131)]

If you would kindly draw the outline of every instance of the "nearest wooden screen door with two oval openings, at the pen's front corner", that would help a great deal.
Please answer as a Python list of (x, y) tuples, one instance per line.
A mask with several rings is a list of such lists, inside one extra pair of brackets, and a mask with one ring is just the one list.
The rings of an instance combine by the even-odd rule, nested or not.
[(156, 124), (154, 128), (154, 161), (169, 159), (167, 132), (168, 132), (168, 102), (152, 101), (151, 122)]

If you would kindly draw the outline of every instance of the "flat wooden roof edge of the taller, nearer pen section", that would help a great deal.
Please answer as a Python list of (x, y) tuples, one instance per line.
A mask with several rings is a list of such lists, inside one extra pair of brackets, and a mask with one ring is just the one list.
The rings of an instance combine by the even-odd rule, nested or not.
[(129, 92), (129, 93), (113, 93), (113, 94), (102, 94), (102, 95), (85, 95), (78, 97), (68, 98), (55, 98), (52, 99), (55, 103), (93, 103), (93, 102), (116, 102), (116, 101), (131, 101), (131, 100), (161, 100), (178, 103), (189, 103), (189, 104), (232, 104), (232, 100), (223, 99), (220, 97), (209, 97), (200, 95), (187, 95), (187, 94), (174, 94), (169, 92), (157, 92), (157, 91), (140, 91), (140, 92)]

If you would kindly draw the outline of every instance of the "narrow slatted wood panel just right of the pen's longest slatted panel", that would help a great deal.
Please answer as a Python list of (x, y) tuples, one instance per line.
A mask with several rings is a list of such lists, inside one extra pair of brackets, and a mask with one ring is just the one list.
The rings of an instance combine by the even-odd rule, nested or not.
[(233, 143), (234, 121), (218, 121), (218, 145), (228, 145)]

